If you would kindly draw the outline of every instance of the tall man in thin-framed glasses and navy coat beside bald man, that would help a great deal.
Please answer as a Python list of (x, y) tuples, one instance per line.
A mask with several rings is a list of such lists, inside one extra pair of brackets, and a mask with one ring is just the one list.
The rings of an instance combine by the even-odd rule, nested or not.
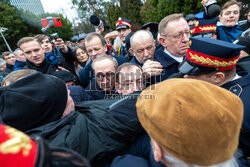
[(178, 72), (178, 65), (188, 48), (190, 29), (182, 14), (172, 14), (159, 24), (161, 46), (156, 48), (154, 61), (143, 64), (147, 78), (156, 76), (152, 82), (161, 82)]

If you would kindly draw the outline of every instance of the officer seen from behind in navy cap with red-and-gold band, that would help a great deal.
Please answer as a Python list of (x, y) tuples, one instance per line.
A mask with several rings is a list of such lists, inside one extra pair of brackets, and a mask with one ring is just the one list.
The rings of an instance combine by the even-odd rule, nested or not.
[[(240, 133), (239, 150), (243, 152), (242, 165), (250, 164), (250, 75), (236, 74), (236, 63), (243, 46), (229, 42), (191, 38), (190, 48), (179, 71), (184, 78), (200, 79), (228, 89), (244, 104), (244, 119)], [(247, 162), (248, 161), (248, 162)]]

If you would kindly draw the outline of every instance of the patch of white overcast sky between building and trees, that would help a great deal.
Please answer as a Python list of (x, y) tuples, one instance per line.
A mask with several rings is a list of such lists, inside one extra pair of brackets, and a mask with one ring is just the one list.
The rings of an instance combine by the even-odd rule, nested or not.
[(45, 12), (62, 13), (72, 22), (77, 17), (75, 9), (71, 9), (71, 0), (41, 0)]

